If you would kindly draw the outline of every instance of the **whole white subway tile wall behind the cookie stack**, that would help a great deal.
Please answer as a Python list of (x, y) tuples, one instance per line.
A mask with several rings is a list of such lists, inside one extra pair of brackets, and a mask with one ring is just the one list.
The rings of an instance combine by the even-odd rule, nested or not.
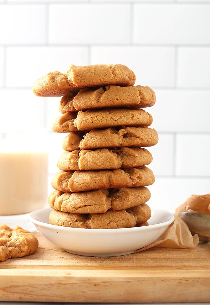
[(159, 143), (149, 147), (152, 208), (210, 193), (210, 0), (0, 0), (0, 139), (47, 130), (50, 182), (67, 134), (51, 131), (60, 98), (38, 77), (70, 64), (122, 63), (156, 92)]

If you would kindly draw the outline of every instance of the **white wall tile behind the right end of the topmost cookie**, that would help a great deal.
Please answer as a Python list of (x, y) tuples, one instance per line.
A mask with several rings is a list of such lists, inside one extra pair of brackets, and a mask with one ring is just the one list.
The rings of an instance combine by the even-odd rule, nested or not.
[(151, 87), (173, 87), (175, 50), (172, 47), (95, 47), (91, 64), (124, 63), (135, 71), (136, 84)]

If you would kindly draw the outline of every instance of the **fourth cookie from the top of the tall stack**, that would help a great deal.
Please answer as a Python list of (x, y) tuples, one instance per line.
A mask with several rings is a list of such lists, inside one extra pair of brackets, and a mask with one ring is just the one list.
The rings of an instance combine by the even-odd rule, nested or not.
[(70, 132), (62, 143), (64, 150), (97, 149), (109, 147), (149, 147), (156, 145), (158, 134), (148, 127), (121, 127), (93, 129), (86, 134)]

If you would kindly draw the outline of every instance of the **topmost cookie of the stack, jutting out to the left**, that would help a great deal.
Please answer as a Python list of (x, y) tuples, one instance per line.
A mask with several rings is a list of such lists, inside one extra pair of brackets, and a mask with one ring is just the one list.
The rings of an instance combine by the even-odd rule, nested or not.
[(62, 96), (69, 91), (106, 85), (132, 86), (135, 74), (128, 67), (116, 65), (71, 65), (66, 73), (50, 72), (33, 85), (38, 96)]

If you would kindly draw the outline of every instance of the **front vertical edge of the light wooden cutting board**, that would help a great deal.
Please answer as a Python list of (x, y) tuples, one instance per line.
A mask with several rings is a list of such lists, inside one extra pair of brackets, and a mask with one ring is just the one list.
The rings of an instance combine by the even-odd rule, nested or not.
[(210, 277), (4, 276), (0, 301), (195, 303), (210, 301)]

